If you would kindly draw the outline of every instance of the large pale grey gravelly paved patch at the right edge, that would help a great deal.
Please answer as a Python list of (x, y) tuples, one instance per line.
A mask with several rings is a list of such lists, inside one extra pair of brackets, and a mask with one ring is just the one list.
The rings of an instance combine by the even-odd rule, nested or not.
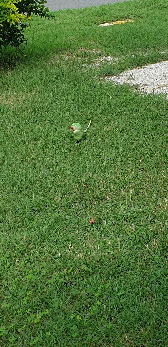
[(164, 93), (168, 99), (168, 61), (125, 70), (117, 76), (105, 77), (103, 80), (115, 84), (128, 83), (130, 86), (137, 86), (137, 89), (145, 94)]

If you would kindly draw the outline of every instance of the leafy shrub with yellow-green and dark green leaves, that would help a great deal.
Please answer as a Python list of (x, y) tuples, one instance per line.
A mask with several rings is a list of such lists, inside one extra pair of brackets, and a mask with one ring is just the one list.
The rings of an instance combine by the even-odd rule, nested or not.
[(0, 48), (26, 42), (24, 29), (31, 14), (49, 18), (45, 0), (0, 0)]

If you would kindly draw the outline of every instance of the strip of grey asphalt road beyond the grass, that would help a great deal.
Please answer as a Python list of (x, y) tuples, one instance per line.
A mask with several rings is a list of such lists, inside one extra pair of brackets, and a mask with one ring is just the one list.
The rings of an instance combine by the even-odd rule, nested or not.
[(98, 6), (107, 3), (123, 2), (127, 0), (48, 0), (46, 6), (50, 11), (63, 10), (66, 8), (82, 8), (87, 6)]

